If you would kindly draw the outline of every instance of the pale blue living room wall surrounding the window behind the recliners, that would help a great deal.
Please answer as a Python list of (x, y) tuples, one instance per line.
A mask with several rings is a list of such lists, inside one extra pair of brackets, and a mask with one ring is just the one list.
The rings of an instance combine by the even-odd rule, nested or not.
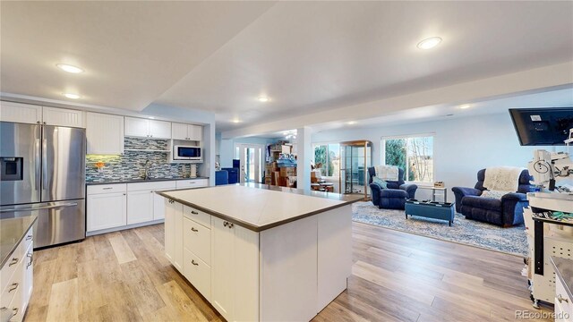
[[(357, 125), (359, 126), (359, 125)], [(434, 181), (443, 181), (453, 200), (451, 187), (473, 187), (477, 171), (494, 165), (527, 166), (535, 148), (522, 147), (509, 113), (488, 114), (436, 122), (381, 125), (378, 128), (323, 131), (312, 135), (312, 143), (322, 141), (371, 140), (372, 163), (381, 164), (381, 137), (434, 133)], [(558, 148), (558, 150), (564, 148)], [(420, 191), (423, 193), (424, 191)], [(416, 194), (416, 198), (427, 195)]]

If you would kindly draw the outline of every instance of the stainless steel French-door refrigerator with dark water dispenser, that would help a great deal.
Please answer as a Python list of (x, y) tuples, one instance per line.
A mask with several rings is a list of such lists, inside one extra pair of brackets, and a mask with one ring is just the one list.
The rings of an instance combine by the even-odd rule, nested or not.
[(0, 218), (37, 215), (34, 248), (85, 238), (84, 129), (0, 122)]

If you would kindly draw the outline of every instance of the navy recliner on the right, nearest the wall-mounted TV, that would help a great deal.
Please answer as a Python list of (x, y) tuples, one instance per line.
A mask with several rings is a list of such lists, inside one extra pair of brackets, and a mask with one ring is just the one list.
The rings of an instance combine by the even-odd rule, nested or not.
[(523, 224), (523, 208), (529, 205), (526, 193), (533, 191), (529, 183), (531, 176), (527, 170), (519, 175), (516, 192), (508, 193), (501, 199), (480, 197), (485, 179), (485, 169), (477, 172), (475, 188), (453, 187), (456, 196), (456, 211), (467, 219), (510, 227)]

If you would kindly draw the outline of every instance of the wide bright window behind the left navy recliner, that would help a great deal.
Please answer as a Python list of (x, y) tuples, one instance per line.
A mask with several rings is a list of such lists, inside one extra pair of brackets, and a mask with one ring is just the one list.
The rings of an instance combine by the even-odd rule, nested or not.
[(433, 135), (382, 138), (382, 164), (405, 170), (406, 181), (433, 182)]

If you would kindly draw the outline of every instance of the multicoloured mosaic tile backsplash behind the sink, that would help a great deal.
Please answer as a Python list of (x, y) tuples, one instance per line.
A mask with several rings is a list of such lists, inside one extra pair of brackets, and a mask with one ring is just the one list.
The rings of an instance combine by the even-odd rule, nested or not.
[[(123, 156), (86, 156), (86, 182), (98, 180), (127, 180), (143, 176), (144, 166), (150, 160), (150, 177), (152, 178), (181, 178), (188, 177), (191, 172), (189, 164), (167, 163), (167, 148), (169, 140), (148, 140), (139, 138), (124, 139)], [(146, 149), (150, 151), (130, 151), (130, 149)], [(103, 173), (98, 173), (96, 163), (105, 164)], [(197, 165), (197, 172), (201, 164)]]

